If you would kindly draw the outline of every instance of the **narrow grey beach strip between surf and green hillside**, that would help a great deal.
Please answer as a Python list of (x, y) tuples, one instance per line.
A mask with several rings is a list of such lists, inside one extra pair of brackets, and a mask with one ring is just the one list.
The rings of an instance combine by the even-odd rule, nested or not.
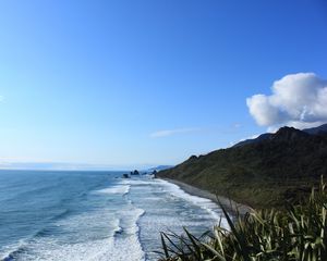
[(222, 197), (222, 196), (216, 196), (215, 194), (211, 194), (207, 190), (194, 187), (186, 183), (171, 179), (171, 178), (161, 178), (161, 177), (158, 177), (158, 178), (179, 186), (182, 190), (184, 190), (185, 192), (187, 192), (192, 196), (197, 196), (201, 198), (209, 199), (209, 200), (214, 201), (215, 203), (217, 203), (218, 206), (221, 204), (228, 212), (231, 212), (232, 214), (235, 214), (237, 212), (239, 212), (241, 215), (244, 215), (244, 214), (253, 211), (253, 209), (246, 204), (238, 203), (234, 200)]

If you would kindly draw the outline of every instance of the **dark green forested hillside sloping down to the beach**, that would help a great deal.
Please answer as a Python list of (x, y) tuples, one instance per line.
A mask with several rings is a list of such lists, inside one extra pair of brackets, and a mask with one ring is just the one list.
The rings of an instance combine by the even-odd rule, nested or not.
[(327, 177), (327, 124), (299, 130), (281, 127), (231, 148), (158, 173), (228, 196), (252, 207), (281, 206), (301, 200), (311, 187)]

